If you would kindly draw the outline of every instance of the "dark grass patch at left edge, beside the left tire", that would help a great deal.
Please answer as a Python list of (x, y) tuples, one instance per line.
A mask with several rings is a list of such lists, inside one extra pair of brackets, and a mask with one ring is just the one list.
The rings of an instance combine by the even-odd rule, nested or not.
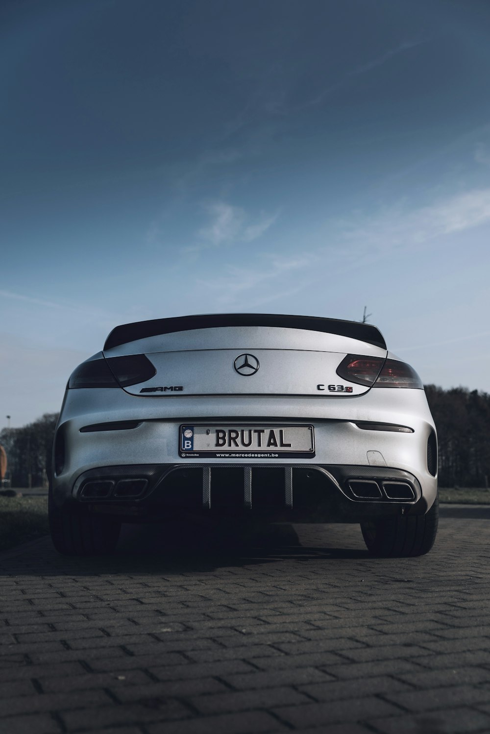
[(48, 532), (47, 497), (0, 496), (0, 551)]

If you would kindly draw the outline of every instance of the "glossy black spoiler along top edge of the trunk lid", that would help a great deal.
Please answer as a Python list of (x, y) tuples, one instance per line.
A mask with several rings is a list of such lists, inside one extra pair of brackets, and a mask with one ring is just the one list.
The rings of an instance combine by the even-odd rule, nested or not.
[(322, 331), (326, 334), (338, 334), (352, 339), (359, 339), (367, 342), (367, 344), (380, 346), (381, 349), (387, 348), (381, 332), (371, 324), (361, 324), (359, 321), (342, 321), (340, 319), (323, 319), (321, 316), (285, 316), (281, 313), (209, 313), (199, 316), (176, 316), (172, 319), (135, 321), (134, 324), (122, 324), (122, 326), (115, 327), (106, 338), (106, 344), (103, 348), (111, 349), (113, 346), (128, 344), (128, 342), (136, 339), (145, 339), (160, 334), (224, 326), (269, 326)]

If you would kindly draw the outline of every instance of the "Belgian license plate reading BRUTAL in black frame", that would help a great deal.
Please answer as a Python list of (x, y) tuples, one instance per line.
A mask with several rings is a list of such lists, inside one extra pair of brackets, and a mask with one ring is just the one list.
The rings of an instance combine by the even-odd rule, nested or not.
[(180, 426), (179, 454), (216, 459), (314, 457), (313, 433), (313, 426)]

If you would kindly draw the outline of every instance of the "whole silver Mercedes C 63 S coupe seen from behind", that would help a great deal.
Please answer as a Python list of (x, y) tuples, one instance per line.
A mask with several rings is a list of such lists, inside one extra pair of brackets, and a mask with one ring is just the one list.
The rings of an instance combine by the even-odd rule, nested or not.
[(116, 327), (67, 384), (54, 545), (106, 553), (121, 523), (196, 516), (360, 523), (373, 555), (427, 553), (437, 442), (417, 373), (355, 321), (232, 313)]

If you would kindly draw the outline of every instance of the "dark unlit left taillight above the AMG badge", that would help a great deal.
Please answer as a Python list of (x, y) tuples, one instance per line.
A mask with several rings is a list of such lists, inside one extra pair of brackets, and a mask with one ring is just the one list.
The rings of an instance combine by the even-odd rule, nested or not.
[(100, 357), (78, 365), (67, 388), (125, 388), (146, 382), (155, 374), (156, 368), (145, 355)]

